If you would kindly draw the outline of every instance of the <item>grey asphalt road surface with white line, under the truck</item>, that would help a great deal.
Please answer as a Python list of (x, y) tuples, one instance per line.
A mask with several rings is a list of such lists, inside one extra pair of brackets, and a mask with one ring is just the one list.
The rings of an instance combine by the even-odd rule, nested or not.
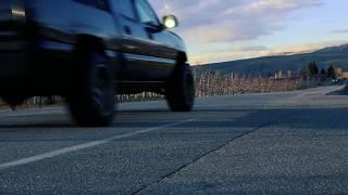
[(348, 193), (341, 87), (119, 106), (110, 128), (63, 108), (0, 113), (2, 193)]

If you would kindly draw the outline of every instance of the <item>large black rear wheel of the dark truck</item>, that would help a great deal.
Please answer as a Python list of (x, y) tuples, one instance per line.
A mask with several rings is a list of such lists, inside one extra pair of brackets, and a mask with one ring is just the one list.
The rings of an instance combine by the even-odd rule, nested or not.
[(115, 86), (105, 56), (83, 52), (75, 63), (74, 83), (66, 98), (73, 119), (83, 127), (110, 126), (115, 108)]

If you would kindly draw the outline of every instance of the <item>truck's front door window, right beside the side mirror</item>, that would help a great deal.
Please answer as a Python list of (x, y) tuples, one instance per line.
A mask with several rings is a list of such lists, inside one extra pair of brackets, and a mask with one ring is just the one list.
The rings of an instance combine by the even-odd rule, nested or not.
[(136, 0), (136, 8), (141, 23), (160, 25), (157, 14), (146, 0)]

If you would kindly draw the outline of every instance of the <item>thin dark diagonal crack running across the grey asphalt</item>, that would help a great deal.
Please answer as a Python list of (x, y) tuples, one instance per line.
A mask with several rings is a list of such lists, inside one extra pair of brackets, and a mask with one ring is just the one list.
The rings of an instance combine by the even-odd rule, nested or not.
[(241, 138), (244, 138), (244, 136), (246, 136), (246, 135), (248, 135), (248, 134), (251, 134), (251, 133), (253, 133), (253, 132), (256, 132), (256, 131), (258, 131), (258, 130), (260, 130), (260, 129), (262, 129), (262, 128), (264, 128), (264, 127), (268, 127), (268, 126), (270, 126), (270, 125), (272, 125), (272, 123), (274, 123), (274, 122), (277, 122), (278, 120), (282, 120), (283, 118), (289, 117), (289, 116), (293, 115), (293, 113), (294, 113), (294, 112), (291, 112), (290, 114), (286, 114), (286, 115), (282, 115), (282, 116), (275, 117), (275, 118), (273, 118), (273, 119), (270, 120), (270, 121), (266, 121), (266, 122), (263, 122), (263, 123), (257, 126), (256, 128), (251, 129), (250, 131), (246, 131), (245, 133), (243, 133), (243, 134), (240, 134), (240, 135), (238, 135), (238, 136), (235, 136), (235, 138), (231, 139), (231, 140), (226, 141), (224, 144), (222, 144), (222, 145), (220, 145), (220, 146), (217, 146), (217, 147), (215, 147), (215, 148), (213, 148), (213, 150), (210, 150), (210, 151), (208, 151), (208, 152), (206, 152), (206, 153), (203, 153), (203, 154), (195, 157), (195, 158), (191, 159), (189, 162), (184, 164), (183, 166), (178, 167), (177, 169), (173, 170), (172, 172), (160, 177), (156, 182), (152, 182), (152, 183), (150, 183), (150, 184), (148, 184), (148, 185), (145, 185), (145, 186), (140, 187), (139, 190), (133, 192), (132, 194), (133, 194), (133, 195), (140, 194), (142, 191), (146, 191), (147, 188), (150, 188), (150, 187), (153, 186), (153, 185), (160, 184), (160, 183), (161, 183), (162, 181), (164, 181), (165, 179), (172, 178), (172, 177), (173, 177), (174, 174), (176, 174), (177, 172), (184, 170), (185, 168), (189, 167), (190, 165), (196, 164), (197, 161), (199, 161), (200, 159), (204, 158), (206, 156), (208, 156), (208, 155), (210, 155), (210, 154), (213, 154), (213, 153), (215, 153), (215, 152), (217, 152), (217, 151), (220, 151), (220, 150), (228, 146), (231, 143), (233, 143), (234, 141), (236, 141), (236, 140), (238, 140), (238, 139), (241, 139)]

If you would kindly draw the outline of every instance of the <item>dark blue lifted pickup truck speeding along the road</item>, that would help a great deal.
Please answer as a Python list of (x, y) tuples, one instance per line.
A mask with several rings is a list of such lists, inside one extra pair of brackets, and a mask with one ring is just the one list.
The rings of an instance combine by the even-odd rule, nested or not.
[(0, 98), (62, 95), (79, 126), (108, 126), (115, 95), (165, 95), (189, 112), (195, 84), (183, 40), (147, 0), (1, 0)]

